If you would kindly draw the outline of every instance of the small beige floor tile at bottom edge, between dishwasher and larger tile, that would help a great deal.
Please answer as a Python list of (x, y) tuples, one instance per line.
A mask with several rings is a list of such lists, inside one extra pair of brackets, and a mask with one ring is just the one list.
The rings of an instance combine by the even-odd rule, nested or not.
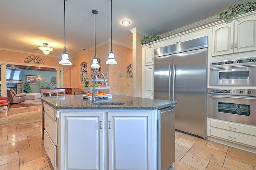
[(209, 161), (189, 153), (186, 153), (185, 156), (180, 161), (198, 170), (205, 170), (209, 163)]

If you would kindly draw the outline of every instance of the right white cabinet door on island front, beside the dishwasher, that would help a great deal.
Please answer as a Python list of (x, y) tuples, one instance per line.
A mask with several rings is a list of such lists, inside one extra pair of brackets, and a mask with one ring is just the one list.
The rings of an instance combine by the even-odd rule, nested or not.
[(109, 170), (152, 169), (152, 112), (108, 112)]

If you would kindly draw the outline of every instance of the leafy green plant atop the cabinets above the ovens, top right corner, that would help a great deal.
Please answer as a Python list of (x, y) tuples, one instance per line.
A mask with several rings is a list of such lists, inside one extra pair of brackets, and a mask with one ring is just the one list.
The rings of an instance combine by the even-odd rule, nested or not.
[(219, 14), (219, 20), (226, 20), (226, 22), (229, 19), (232, 19), (234, 17), (237, 17), (241, 14), (245, 14), (248, 12), (252, 12), (256, 10), (256, 2), (244, 2), (242, 4), (234, 4), (230, 6), (228, 9), (220, 12)]

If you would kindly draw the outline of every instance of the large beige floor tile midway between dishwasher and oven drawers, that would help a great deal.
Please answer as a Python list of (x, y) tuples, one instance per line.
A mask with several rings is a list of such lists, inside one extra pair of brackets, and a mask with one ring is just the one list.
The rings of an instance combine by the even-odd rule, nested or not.
[(208, 160), (214, 164), (218, 164), (220, 166), (223, 165), (226, 156), (226, 152), (221, 152), (219, 150), (197, 143), (195, 143), (190, 148), (188, 153), (203, 158), (204, 160)]

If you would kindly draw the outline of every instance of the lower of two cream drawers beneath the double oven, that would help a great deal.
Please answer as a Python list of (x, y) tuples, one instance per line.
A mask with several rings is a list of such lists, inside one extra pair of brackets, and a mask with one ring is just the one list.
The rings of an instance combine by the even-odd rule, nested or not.
[(234, 133), (230, 133), (230, 132), (226, 132), (226, 131), (211, 128), (211, 136), (217, 136), (217, 137), (220, 137), (220, 138), (224, 138), (224, 139), (227, 139), (227, 140), (239, 142), (239, 143), (242, 143), (242, 144), (248, 144), (248, 145), (251, 145), (251, 146), (256, 146), (256, 138), (251, 138), (251, 137), (248, 137), (248, 136), (242, 136), (240, 134), (234, 134)]

